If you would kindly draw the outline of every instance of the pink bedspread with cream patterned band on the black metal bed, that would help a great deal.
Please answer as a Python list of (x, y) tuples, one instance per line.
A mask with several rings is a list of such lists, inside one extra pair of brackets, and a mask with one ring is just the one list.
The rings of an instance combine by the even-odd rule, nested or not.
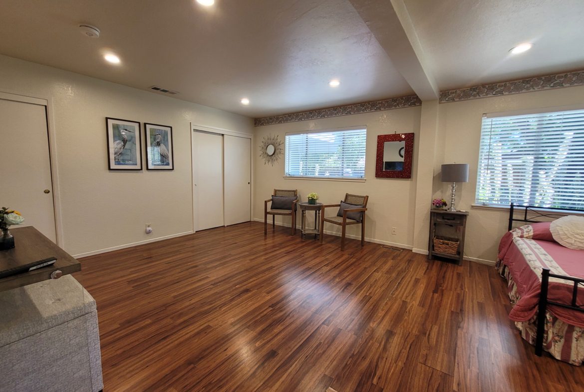
[[(551, 273), (584, 279), (584, 251), (565, 248), (557, 242), (534, 239), (545, 237), (543, 234), (537, 235), (537, 227), (536, 230), (528, 228), (527, 233), (518, 234), (516, 230), (506, 233), (501, 239), (499, 260), (508, 266), (520, 296), (509, 318), (513, 321), (528, 321), (537, 311), (542, 266), (549, 268)], [(572, 285), (573, 282), (568, 280), (550, 278), (548, 300), (570, 304)], [(577, 303), (584, 304), (584, 287), (578, 291)], [(582, 312), (558, 306), (548, 306), (548, 311), (559, 320), (584, 328)]]

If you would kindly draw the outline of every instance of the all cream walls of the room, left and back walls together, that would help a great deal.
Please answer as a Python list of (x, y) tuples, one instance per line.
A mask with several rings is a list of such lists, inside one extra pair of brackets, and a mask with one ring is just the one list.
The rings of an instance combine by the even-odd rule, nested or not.
[[(482, 113), (584, 104), (584, 86), (443, 103), (437, 105), (437, 110), (429, 110), (438, 122), (437, 139), (431, 143), (434, 157), (428, 159), (428, 150), (419, 159), (420, 107), (253, 129), (253, 122), (247, 117), (1, 55), (0, 91), (44, 98), (50, 103), (50, 126), (57, 142), (61, 246), (74, 255), (193, 230), (189, 125), (193, 122), (255, 134), (256, 219), (263, 220), (263, 200), (270, 197), (273, 188), (298, 189), (303, 200), (307, 193), (318, 192), (319, 201), (324, 203), (338, 203), (346, 192), (369, 195), (366, 237), (406, 248), (415, 244), (415, 236), (425, 233), (426, 209), (430, 207), (430, 200), (426, 206), (420, 197), (416, 205), (416, 187), (423, 185), (416, 184), (416, 176), (433, 172), (433, 196), (449, 199), (448, 185), (439, 181), (440, 164), (468, 162), (470, 181), (460, 184), (457, 193), (457, 207), (471, 211), (465, 254), (478, 261), (494, 261), (499, 238), (506, 230), (507, 213), (471, 207)], [(175, 170), (108, 171), (106, 116), (172, 126)], [(274, 166), (263, 164), (259, 158), (259, 144), (268, 134), (277, 134), (284, 140), (288, 131), (361, 125), (367, 126), (366, 182), (284, 179), (283, 157)], [(411, 179), (375, 178), (377, 135), (394, 132), (415, 133)], [(289, 224), (287, 218), (283, 219)], [(144, 233), (146, 223), (154, 228), (150, 236)], [(391, 227), (397, 227), (397, 235), (391, 234)], [(332, 225), (326, 226), (326, 230), (339, 231)], [(350, 227), (347, 234), (358, 237), (359, 227)]]

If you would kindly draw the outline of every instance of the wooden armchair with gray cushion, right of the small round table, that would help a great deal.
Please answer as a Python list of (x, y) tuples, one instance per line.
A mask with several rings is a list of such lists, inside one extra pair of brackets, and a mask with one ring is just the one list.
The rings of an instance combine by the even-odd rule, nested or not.
[[(321, 242), (324, 233), (324, 223), (332, 223), (341, 226), (340, 250), (345, 250), (345, 228), (351, 224), (361, 225), (361, 247), (365, 245), (365, 211), (367, 211), (367, 199), (369, 196), (345, 195), (345, 200), (339, 204), (327, 204), (321, 206)], [(325, 208), (337, 207), (336, 216), (325, 217)]]

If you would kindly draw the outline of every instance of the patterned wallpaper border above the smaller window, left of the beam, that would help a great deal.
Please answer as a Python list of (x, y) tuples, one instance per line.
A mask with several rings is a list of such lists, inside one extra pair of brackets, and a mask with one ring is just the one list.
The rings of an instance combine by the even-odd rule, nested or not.
[(254, 125), (283, 124), (304, 120), (325, 119), (326, 117), (357, 115), (359, 113), (378, 112), (379, 110), (398, 109), (399, 107), (420, 106), (422, 100), (417, 95), (399, 98), (374, 100), (372, 102), (354, 103), (353, 105), (329, 107), (328, 109), (310, 110), (308, 112), (291, 113), (289, 115), (262, 117), (254, 120)]

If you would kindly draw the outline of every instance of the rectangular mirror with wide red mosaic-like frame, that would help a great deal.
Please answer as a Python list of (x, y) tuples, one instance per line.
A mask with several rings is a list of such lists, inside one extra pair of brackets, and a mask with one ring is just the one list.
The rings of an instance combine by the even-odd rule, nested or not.
[(377, 178), (412, 178), (413, 133), (377, 136)]

